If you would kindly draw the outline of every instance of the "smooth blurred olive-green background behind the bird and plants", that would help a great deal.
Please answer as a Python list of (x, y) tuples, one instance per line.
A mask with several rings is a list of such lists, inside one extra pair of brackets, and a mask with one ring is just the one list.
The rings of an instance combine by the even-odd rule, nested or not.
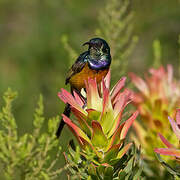
[[(105, 0), (0, 0), (0, 95), (8, 87), (18, 91), (13, 111), (20, 134), (32, 130), (40, 93), (47, 118), (62, 113), (64, 104), (57, 92), (69, 88), (64, 80), (70, 60), (61, 37), (66, 34), (78, 53), (84, 51), (81, 45), (94, 37), (104, 6)], [(180, 1), (134, 0), (131, 8), (135, 12), (133, 34), (139, 41), (129, 57), (128, 70), (138, 74), (147, 71), (153, 64), (153, 40), (159, 39), (162, 63), (173, 64), (177, 75)], [(67, 134), (65, 128), (63, 148), (70, 138)]]

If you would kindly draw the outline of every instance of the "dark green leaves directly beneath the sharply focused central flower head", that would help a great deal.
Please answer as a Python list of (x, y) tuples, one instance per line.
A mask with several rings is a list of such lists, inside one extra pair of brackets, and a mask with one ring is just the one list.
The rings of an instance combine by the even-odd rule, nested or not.
[(116, 161), (114, 165), (101, 164), (95, 166), (93, 157), (87, 159), (83, 151), (76, 149), (70, 142), (69, 154), (65, 153), (68, 163), (69, 177), (82, 180), (137, 180), (141, 177), (142, 164), (140, 151), (133, 145), (126, 155)]

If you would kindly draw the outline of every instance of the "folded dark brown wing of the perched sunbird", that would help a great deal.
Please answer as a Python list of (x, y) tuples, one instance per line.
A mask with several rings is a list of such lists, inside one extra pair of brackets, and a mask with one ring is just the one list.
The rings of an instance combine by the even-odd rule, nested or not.
[(81, 70), (84, 68), (86, 64), (85, 57), (87, 56), (87, 54), (88, 54), (87, 51), (80, 54), (76, 62), (72, 65), (71, 69), (68, 71), (68, 74), (66, 76), (66, 84), (69, 83), (69, 80), (71, 79), (72, 76), (81, 72)]

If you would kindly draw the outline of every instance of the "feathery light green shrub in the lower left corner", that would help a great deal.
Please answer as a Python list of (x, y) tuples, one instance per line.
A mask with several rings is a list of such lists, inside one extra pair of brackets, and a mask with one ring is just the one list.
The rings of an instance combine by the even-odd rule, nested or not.
[[(16, 96), (16, 92), (8, 89), (4, 94), (5, 106), (0, 112), (0, 163), (4, 179), (54, 179), (63, 170), (55, 168), (61, 149), (55, 137), (59, 117), (50, 118), (47, 132), (42, 132), (45, 118), (43, 98), (40, 96), (34, 113), (33, 132), (19, 136), (12, 113), (12, 102)], [(52, 150), (56, 152), (54, 160), (49, 154)]]

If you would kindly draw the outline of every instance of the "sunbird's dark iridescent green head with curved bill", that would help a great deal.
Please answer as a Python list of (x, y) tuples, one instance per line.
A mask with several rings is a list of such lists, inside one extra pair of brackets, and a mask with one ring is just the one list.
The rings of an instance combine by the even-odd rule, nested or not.
[(101, 59), (102, 56), (110, 56), (110, 47), (108, 43), (101, 38), (93, 38), (83, 45), (89, 45), (89, 53), (92, 58)]

